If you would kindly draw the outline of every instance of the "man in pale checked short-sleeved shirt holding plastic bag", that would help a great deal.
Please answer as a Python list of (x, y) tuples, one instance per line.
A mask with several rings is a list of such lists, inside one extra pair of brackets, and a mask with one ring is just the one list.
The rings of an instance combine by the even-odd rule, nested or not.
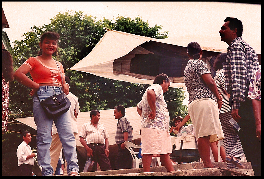
[(80, 132), (80, 142), (86, 149), (87, 156), (92, 157), (94, 161), (92, 168), (97, 171), (97, 163), (101, 171), (112, 170), (109, 156), (109, 134), (106, 131), (105, 125), (98, 123), (100, 120), (100, 112), (92, 110), (90, 113), (91, 122), (84, 123)]

